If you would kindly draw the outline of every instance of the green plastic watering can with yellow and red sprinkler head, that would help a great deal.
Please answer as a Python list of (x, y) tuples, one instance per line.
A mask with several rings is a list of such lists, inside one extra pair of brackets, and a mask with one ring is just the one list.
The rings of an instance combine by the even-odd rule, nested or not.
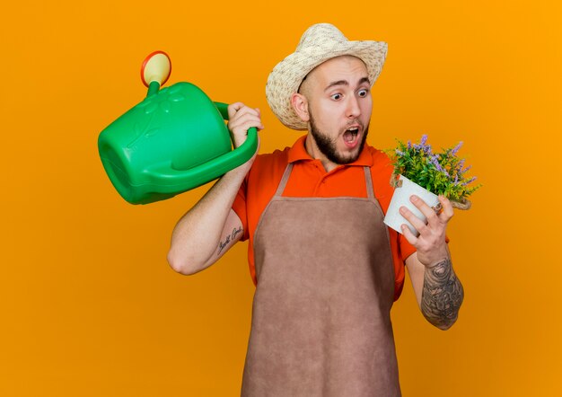
[(119, 194), (131, 204), (170, 199), (213, 181), (247, 162), (258, 148), (256, 128), (233, 149), (225, 103), (211, 101), (197, 86), (160, 87), (171, 74), (170, 57), (145, 58), (144, 101), (128, 110), (98, 138), (101, 163)]

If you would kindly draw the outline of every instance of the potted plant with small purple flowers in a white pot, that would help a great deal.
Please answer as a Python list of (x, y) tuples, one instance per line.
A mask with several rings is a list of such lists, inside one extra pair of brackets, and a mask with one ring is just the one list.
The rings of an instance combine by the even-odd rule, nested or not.
[(416, 222), (419, 227), (426, 225), (427, 216), (410, 201), (412, 195), (422, 199), (435, 212), (442, 209), (437, 195), (449, 199), (452, 207), (469, 209), (467, 197), (481, 186), (467, 187), (476, 177), (466, 178), (470, 167), (463, 168), (465, 160), (456, 156), (462, 142), (454, 148), (444, 149), (441, 154), (434, 154), (426, 141), (426, 135), (416, 145), (399, 141), (398, 148), (391, 153), (394, 165), (391, 185), (395, 190), (384, 223), (399, 233), (402, 233), (401, 225), (408, 225), (413, 235), (419, 235), (419, 228), (400, 214), (400, 207), (408, 207), (409, 212), (419, 218), (421, 224)]

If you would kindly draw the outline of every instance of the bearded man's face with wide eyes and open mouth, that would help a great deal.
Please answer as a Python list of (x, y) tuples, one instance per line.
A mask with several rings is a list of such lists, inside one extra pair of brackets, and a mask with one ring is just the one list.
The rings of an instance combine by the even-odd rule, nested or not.
[(373, 107), (370, 88), (363, 61), (349, 56), (329, 59), (303, 81), (307, 150), (326, 168), (352, 163), (363, 150)]

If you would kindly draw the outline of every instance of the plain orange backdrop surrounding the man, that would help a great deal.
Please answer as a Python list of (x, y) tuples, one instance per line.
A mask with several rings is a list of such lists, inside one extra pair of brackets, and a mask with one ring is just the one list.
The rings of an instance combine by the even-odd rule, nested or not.
[[(407, 284), (393, 311), (406, 396), (560, 395), (562, 8), (556, 2), (11, 2), (0, 24), (0, 394), (237, 395), (254, 287), (246, 245), (193, 277), (171, 229), (210, 185), (148, 206), (113, 190), (96, 140), (141, 101), (154, 49), (169, 84), (262, 109), (261, 151), (293, 144), (270, 69), (315, 22), (385, 40), (369, 141), (459, 140), (485, 186), (449, 227), (466, 291), (438, 331)], [(334, 235), (334, 238), (339, 238)]]

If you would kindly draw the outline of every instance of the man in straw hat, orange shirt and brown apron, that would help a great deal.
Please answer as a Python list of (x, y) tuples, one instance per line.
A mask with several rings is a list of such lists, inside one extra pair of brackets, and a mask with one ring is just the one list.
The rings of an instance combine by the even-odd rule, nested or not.
[[(307, 135), (226, 173), (173, 231), (169, 261), (184, 274), (250, 240), (257, 288), (243, 396), (400, 395), (390, 310), (404, 263), (427, 320), (445, 330), (457, 318), (463, 291), (445, 239), (451, 203), (440, 197), (437, 214), (412, 197), (428, 219), (401, 208), (417, 237), (382, 223), (392, 167), (365, 138), (386, 51), (326, 23), (305, 31), (266, 94), (285, 126)], [(235, 146), (248, 128), (263, 128), (259, 110), (240, 102), (229, 116)]]

